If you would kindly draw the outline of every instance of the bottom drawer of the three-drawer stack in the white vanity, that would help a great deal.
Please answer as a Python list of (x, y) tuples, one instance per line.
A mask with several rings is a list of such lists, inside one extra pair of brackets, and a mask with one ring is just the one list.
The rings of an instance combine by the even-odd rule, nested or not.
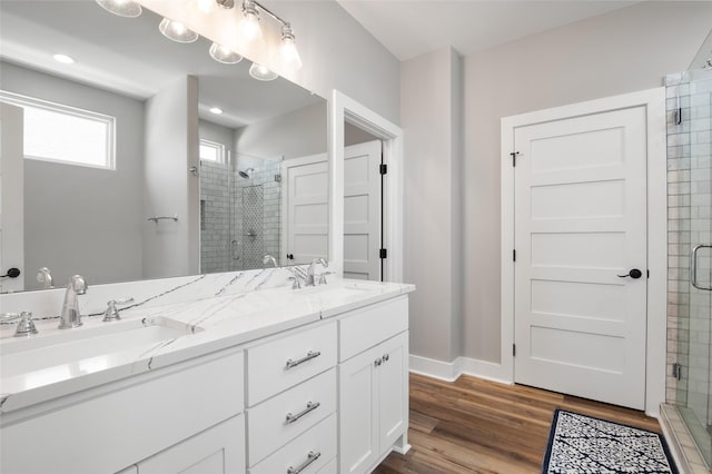
[[(310, 455), (318, 455), (309, 463)], [(249, 474), (288, 474), (306, 465), (300, 474), (326, 473), (322, 471), (336, 456), (336, 414), (319, 422), (261, 463), (249, 468)], [(291, 467), (293, 471), (289, 471)]]

